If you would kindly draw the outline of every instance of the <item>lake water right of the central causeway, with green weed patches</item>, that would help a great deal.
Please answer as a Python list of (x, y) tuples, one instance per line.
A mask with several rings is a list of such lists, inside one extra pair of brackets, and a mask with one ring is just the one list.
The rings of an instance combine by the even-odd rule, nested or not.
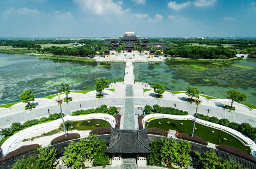
[(247, 95), (247, 101), (243, 103), (256, 105), (256, 59), (245, 58), (232, 64), (181, 61), (135, 63), (134, 72), (135, 80), (149, 84), (160, 82), (169, 90), (185, 90), (186, 86), (193, 86), (202, 94), (222, 99), (226, 98), (226, 91), (236, 89)]

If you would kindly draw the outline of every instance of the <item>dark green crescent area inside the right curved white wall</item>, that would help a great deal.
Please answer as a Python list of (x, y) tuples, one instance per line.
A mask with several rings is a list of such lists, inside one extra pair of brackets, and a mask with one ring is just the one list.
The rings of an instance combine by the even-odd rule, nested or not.
[[(167, 123), (167, 121), (170, 122), (170, 124)], [(158, 124), (158, 123), (161, 124)], [(183, 123), (181, 125), (180, 123)], [(169, 131), (169, 129), (176, 130), (179, 133), (188, 133), (191, 134), (193, 130), (193, 121), (178, 121), (178, 120), (171, 120), (171, 119), (156, 119), (153, 121), (150, 121), (149, 123), (146, 123), (145, 127), (148, 125), (148, 128), (154, 128), (157, 127), (159, 129), (164, 129), (166, 131)], [(194, 134), (198, 137), (204, 138), (207, 142), (213, 143), (215, 145), (230, 145), (237, 147), (247, 153), (250, 153), (250, 147), (243, 145), (239, 140), (237, 140), (235, 137), (230, 136), (227, 133), (221, 132), (219, 129), (213, 129), (206, 127), (204, 125), (196, 123), (195, 126), (197, 129), (194, 131)], [(212, 133), (214, 131), (214, 133)], [(223, 140), (226, 138), (227, 140)]]

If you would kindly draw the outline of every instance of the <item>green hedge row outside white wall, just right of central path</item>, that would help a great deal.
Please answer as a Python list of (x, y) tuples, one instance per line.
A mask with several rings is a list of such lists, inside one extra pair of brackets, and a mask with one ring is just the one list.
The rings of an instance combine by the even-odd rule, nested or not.
[(145, 113), (151, 114), (151, 113), (162, 113), (162, 114), (173, 114), (173, 115), (188, 115), (187, 111), (175, 109), (172, 107), (160, 107), (159, 105), (153, 105), (153, 110), (150, 105), (145, 105)]

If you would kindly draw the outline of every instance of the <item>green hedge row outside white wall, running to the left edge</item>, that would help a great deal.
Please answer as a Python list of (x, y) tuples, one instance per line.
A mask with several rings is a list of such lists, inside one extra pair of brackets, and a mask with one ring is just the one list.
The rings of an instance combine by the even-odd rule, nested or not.
[[(63, 116), (64, 116), (64, 113), (63, 113)], [(20, 122), (15, 122), (11, 124), (10, 128), (5, 128), (4, 130), (2, 130), (1, 134), (5, 135), (5, 137), (11, 136), (15, 131), (20, 131), (24, 128), (31, 127), (37, 124), (38, 122), (45, 122), (47, 120), (56, 120), (60, 118), (61, 118), (61, 113), (54, 113), (54, 114), (50, 114), (48, 118), (42, 117), (40, 120), (34, 119), (31, 121), (26, 121), (24, 124), (21, 124)]]

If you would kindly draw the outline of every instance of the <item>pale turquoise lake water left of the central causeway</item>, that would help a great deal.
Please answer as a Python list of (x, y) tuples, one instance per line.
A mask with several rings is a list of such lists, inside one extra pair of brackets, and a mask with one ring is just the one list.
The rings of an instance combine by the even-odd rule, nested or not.
[(20, 101), (19, 95), (28, 89), (33, 91), (35, 98), (60, 93), (60, 82), (70, 82), (71, 90), (84, 90), (95, 86), (95, 81), (101, 77), (111, 82), (123, 80), (124, 69), (123, 63), (63, 61), (0, 54), (0, 105)]

